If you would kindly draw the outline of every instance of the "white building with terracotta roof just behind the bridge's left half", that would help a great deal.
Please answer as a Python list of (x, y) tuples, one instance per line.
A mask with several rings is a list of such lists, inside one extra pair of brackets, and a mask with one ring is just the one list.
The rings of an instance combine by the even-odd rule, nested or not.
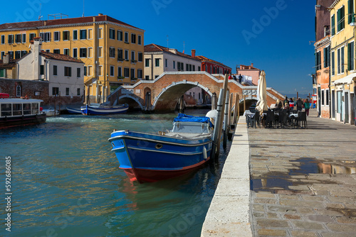
[(145, 45), (145, 79), (156, 79), (163, 72), (201, 71), (199, 59), (180, 53), (174, 48)]

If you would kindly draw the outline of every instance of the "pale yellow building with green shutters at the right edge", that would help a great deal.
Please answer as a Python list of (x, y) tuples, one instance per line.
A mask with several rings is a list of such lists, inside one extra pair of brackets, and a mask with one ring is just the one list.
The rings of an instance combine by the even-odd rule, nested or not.
[[(330, 117), (343, 123), (355, 118), (354, 0), (336, 0), (330, 11)], [(350, 25), (351, 24), (351, 25)]]

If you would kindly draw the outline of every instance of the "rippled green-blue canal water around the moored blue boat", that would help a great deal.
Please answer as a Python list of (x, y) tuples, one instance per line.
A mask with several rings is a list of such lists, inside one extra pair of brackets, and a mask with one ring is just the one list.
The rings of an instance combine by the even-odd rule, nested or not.
[[(187, 111), (205, 114), (206, 111)], [(0, 131), (1, 196), (11, 156), (11, 233), (0, 236), (200, 236), (226, 159), (184, 177), (137, 184), (119, 169), (114, 128), (157, 132), (177, 114), (62, 115)], [(228, 146), (229, 148), (229, 146)]]

